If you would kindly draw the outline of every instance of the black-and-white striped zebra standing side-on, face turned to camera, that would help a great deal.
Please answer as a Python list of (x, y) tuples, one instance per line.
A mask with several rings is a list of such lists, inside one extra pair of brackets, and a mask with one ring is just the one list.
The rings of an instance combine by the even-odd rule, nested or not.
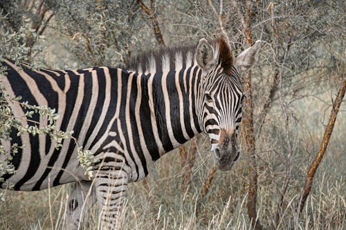
[[(25, 147), (12, 156), (17, 173), (3, 175), (1, 188), (12, 183), (15, 190), (37, 191), (74, 182), (66, 212), (69, 229), (78, 229), (85, 210), (96, 202), (102, 228), (114, 229), (127, 184), (145, 178), (158, 158), (194, 135), (206, 133), (217, 168), (230, 170), (240, 154), (236, 135), (242, 119), (242, 73), (255, 65), (260, 48), (258, 40), (233, 58), (224, 39), (200, 39), (197, 46), (138, 55), (127, 70), (19, 69), (3, 60), (8, 75), (0, 81), (6, 94), (55, 108), (57, 129), (73, 130), (78, 144), (99, 162), (89, 179), (75, 142), (66, 139), (57, 150), (44, 135), (17, 137), (13, 130), (12, 140), (1, 140), (1, 145)], [(26, 112), (17, 104), (11, 108), (15, 117)], [(43, 122), (39, 116), (33, 119)]]

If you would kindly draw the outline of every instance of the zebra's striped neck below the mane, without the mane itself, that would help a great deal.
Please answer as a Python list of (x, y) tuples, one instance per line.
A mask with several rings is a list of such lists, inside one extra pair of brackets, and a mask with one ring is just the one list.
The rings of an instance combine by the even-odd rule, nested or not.
[(198, 66), (142, 75), (147, 78), (150, 119), (160, 155), (201, 133)]

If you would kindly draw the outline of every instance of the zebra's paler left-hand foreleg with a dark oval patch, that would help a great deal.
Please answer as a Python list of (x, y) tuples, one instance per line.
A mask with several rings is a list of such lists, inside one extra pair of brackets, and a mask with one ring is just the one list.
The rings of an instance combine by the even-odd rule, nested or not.
[(67, 229), (83, 229), (81, 223), (85, 216), (84, 213), (87, 213), (96, 201), (94, 188), (91, 186), (91, 182), (75, 182), (67, 204)]

